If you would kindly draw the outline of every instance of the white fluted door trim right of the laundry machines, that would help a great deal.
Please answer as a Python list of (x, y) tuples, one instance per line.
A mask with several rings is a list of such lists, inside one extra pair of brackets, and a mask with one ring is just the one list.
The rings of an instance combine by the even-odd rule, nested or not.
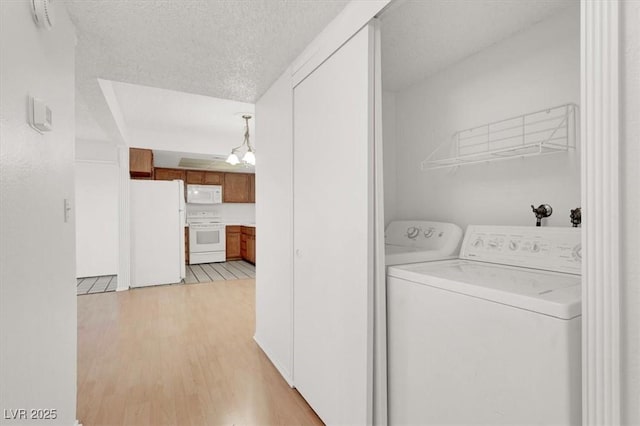
[(620, 424), (618, 0), (581, 0), (582, 421)]

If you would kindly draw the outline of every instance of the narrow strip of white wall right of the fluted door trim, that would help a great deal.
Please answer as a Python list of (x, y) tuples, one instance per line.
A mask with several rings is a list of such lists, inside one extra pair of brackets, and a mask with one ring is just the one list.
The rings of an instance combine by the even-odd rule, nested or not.
[(640, 424), (640, 2), (621, 6), (622, 423)]

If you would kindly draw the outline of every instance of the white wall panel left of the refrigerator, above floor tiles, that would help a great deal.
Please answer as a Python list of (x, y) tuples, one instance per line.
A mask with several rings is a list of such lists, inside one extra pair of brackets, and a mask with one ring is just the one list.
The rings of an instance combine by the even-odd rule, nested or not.
[(118, 273), (118, 164), (76, 161), (76, 276)]

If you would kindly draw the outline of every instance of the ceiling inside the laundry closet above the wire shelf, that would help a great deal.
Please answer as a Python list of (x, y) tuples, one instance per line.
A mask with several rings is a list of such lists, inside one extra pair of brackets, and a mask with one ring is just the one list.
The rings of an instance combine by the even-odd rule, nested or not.
[(578, 0), (407, 0), (382, 16), (382, 79), (398, 91)]

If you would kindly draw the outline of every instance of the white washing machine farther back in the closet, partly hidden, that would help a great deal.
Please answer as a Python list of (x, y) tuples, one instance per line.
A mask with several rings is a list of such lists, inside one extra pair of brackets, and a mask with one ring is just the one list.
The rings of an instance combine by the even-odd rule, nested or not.
[(458, 256), (462, 229), (453, 223), (399, 220), (384, 231), (385, 264), (452, 259)]

